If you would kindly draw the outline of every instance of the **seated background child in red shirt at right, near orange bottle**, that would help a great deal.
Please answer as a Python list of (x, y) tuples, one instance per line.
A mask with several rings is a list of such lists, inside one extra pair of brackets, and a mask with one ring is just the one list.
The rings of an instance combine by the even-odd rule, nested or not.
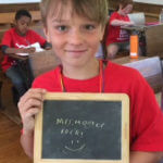
[(134, 25), (127, 14), (133, 10), (133, 1), (120, 0), (118, 10), (112, 13), (105, 40), (106, 53), (109, 59), (115, 58), (120, 50), (129, 50), (129, 35), (122, 26)]

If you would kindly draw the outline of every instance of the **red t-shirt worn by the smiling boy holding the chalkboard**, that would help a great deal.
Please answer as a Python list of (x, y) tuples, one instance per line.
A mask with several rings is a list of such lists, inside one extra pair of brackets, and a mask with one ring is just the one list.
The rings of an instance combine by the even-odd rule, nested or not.
[[(63, 82), (68, 92), (99, 92), (99, 76), (86, 80), (63, 76)], [(61, 92), (60, 67), (37, 77), (33, 87)], [(139, 72), (109, 62), (104, 70), (104, 92), (129, 97), (130, 150), (163, 151), (163, 114), (153, 90)]]

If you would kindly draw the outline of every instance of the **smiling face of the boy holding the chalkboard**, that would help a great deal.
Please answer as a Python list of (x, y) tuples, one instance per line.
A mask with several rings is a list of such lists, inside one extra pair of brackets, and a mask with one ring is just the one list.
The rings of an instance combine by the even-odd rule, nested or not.
[(45, 29), (62, 64), (74, 66), (83, 66), (95, 60), (103, 30), (96, 22), (72, 14), (71, 3), (61, 17), (50, 11)]

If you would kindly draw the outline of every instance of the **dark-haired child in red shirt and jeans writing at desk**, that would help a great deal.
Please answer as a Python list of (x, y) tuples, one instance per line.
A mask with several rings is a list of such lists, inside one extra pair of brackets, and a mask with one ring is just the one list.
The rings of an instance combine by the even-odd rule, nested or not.
[(5, 32), (1, 42), (1, 49), (4, 53), (1, 64), (2, 70), (7, 76), (11, 78), (20, 97), (25, 93), (27, 88), (25, 86), (22, 71), (20, 71), (16, 61), (8, 54), (33, 53), (35, 52), (35, 48), (30, 48), (29, 45), (35, 42), (39, 42), (45, 49), (49, 49), (50, 47), (45, 38), (28, 29), (32, 15), (28, 11), (17, 11), (15, 14), (15, 27)]

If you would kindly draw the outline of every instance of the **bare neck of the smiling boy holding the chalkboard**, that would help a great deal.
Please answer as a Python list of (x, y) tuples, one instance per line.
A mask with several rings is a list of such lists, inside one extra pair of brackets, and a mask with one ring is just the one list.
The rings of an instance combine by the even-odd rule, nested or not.
[(89, 79), (99, 75), (99, 61), (89, 62), (87, 66), (71, 66), (63, 64), (63, 75), (74, 79)]

